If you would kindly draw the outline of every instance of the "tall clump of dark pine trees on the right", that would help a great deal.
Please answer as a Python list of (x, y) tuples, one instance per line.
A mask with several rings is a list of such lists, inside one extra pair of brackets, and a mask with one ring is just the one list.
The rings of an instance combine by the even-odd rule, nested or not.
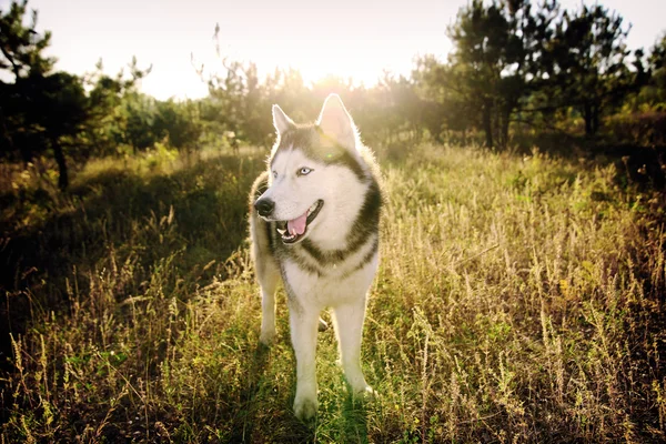
[(592, 137), (649, 80), (642, 50), (629, 65), (628, 31), (601, 4), (569, 12), (556, 0), (475, 0), (448, 27), (448, 62), (424, 57), (414, 78), (463, 140), (476, 128), (486, 147), (506, 148), (512, 122), (548, 129), (576, 115)]

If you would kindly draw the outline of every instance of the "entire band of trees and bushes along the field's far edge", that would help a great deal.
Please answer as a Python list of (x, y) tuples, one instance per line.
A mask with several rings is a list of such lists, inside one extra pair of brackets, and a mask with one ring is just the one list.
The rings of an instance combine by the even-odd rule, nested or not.
[(305, 84), (293, 69), (260, 75), (255, 63), (221, 53), (216, 27), (220, 70), (199, 68), (209, 97), (198, 101), (141, 94), (138, 82), (151, 69), (135, 59), (115, 75), (103, 72), (101, 60), (82, 78), (51, 72), (54, 59), (43, 56), (50, 33), (36, 32), (37, 11), (24, 23), (27, 13), (26, 1), (0, 13), (0, 69), (14, 78), (0, 82), (1, 154), (27, 164), (52, 153), (62, 189), (68, 159), (80, 168), (93, 157), (137, 154), (158, 143), (189, 152), (268, 147), (273, 103), (297, 120), (313, 120), (331, 92), (345, 98), (369, 142), (396, 157), (403, 144), (424, 138), (463, 145), (483, 140), (500, 149), (525, 132), (584, 130), (593, 137), (602, 130), (608, 139), (643, 125), (640, 113), (659, 112), (665, 103), (664, 39), (647, 58), (637, 50), (629, 62), (629, 30), (599, 4), (569, 12), (557, 0), (474, 0), (447, 28), (454, 50), (446, 62), (424, 56), (411, 77), (386, 72), (371, 88), (339, 78)]

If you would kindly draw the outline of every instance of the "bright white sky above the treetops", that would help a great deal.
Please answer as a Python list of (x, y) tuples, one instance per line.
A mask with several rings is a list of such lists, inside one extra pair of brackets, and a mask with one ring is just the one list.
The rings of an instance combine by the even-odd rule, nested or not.
[[(577, 8), (579, 0), (561, 0)], [(10, 0), (0, 0), (7, 10)], [(373, 84), (384, 69), (408, 74), (416, 54), (445, 59), (446, 26), (467, 0), (29, 0), (39, 30), (51, 30), (57, 69), (93, 71), (102, 58), (115, 73), (137, 56), (153, 65), (143, 92), (158, 99), (208, 93), (190, 54), (219, 69), (212, 36), (220, 23), (223, 54), (254, 61), (260, 74), (293, 67), (306, 81), (326, 74)], [(665, 0), (604, 0), (633, 23), (630, 48), (652, 47), (666, 30)]]

